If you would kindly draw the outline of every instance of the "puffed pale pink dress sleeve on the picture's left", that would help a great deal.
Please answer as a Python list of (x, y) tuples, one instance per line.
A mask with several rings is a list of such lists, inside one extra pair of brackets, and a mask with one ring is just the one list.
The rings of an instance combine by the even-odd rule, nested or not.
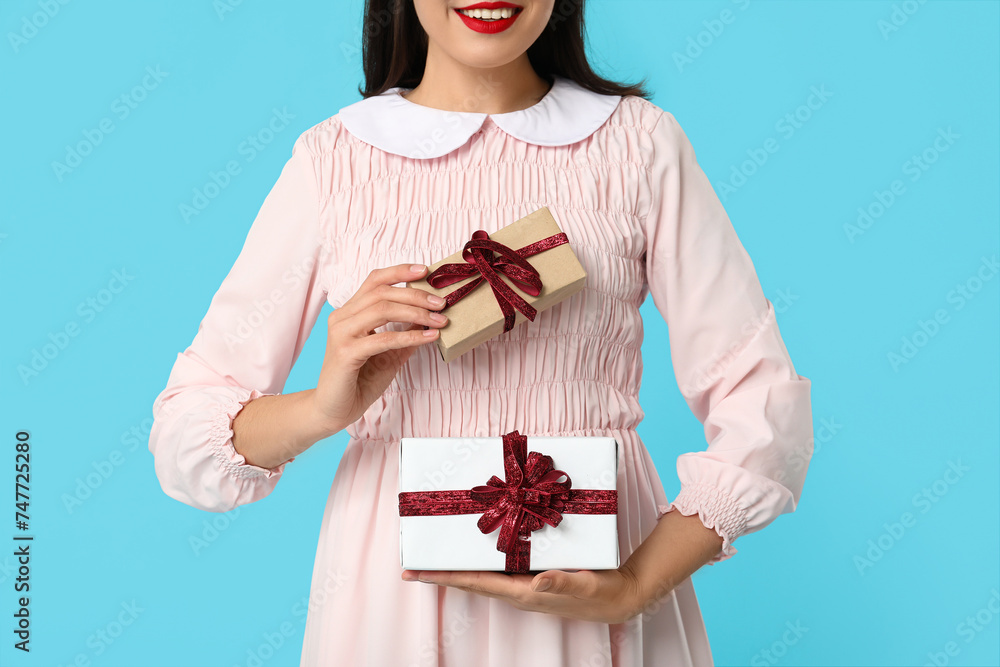
[(248, 464), (233, 447), (232, 421), (247, 402), (281, 392), (326, 301), (318, 179), (307, 134), (296, 140), (193, 342), (178, 354), (153, 404), (149, 450), (160, 485), (203, 510), (260, 500), (287, 464)]

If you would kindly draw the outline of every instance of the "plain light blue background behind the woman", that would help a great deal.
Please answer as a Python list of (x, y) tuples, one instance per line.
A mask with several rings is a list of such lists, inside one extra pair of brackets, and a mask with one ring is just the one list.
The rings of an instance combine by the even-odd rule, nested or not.
[[(695, 575), (717, 664), (923, 665), (929, 654), (945, 664), (949, 642), (958, 653), (947, 664), (998, 664), (1000, 618), (983, 612), (972, 633), (960, 624), (1000, 586), (1000, 279), (992, 273), (962, 308), (949, 298), (998, 252), (997, 3), (590, 5), (595, 67), (620, 80), (649, 75), (654, 101), (677, 117), (720, 195), (747, 150), (768, 137), (780, 147), (725, 206), (781, 307), (796, 370), (813, 382), (816, 452), (797, 511)], [(915, 13), (884, 35), (879, 22), (903, 5)], [(209, 0), (71, 2), (15, 49), (10, 33), (42, 10), (37, 0), (3, 3), (0, 467), (11, 489), (14, 434), (30, 430), (36, 535), (30, 656), (12, 648), (14, 561), (0, 547), (4, 665), (79, 654), (102, 665), (246, 665), (286, 621), (294, 634), (264, 664), (298, 665), (296, 604), (346, 434), (303, 454), (272, 496), (226, 521), (164, 495), (146, 444), (153, 399), (292, 143), (360, 99), (361, 8), (244, 1), (220, 15)], [(679, 67), (674, 52), (726, 9), (733, 21), (701, 35), (702, 52)], [(168, 74), (122, 118), (113, 102), (147, 67)], [(792, 136), (779, 132), (813, 86), (832, 96)], [(239, 146), (273, 108), (294, 119), (247, 161)], [(113, 132), (60, 180), (52, 163), (104, 118)], [(905, 163), (939, 128), (959, 138), (910, 180)], [(185, 224), (178, 206), (231, 159), (242, 173)], [(894, 179), (905, 193), (849, 241), (845, 224)], [(126, 289), (92, 319), (78, 311), (115, 270), (134, 276)], [(947, 322), (917, 336), (917, 354), (893, 368), (887, 355), (939, 309)], [(315, 385), (328, 312), (286, 392)], [(705, 441), (668, 370), (651, 299), (643, 313), (640, 433), (672, 496), (677, 455)], [(67, 322), (79, 335), (22, 381), (18, 365)], [(68, 511), (65, 495), (116, 450), (121, 465)], [(968, 470), (942, 481), (955, 462)], [(936, 502), (922, 505), (916, 495), (935, 482)], [(0, 493), (5, 545), (11, 496)], [(897, 539), (885, 524), (904, 512), (915, 523)], [(189, 539), (213, 519), (229, 525), (196, 555)], [(859, 569), (880, 539), (888, 548)], [(133, 601), (135, 622), (98, 655), (89, 638)], [(796, 624), (799, 635), (786, 633)]]

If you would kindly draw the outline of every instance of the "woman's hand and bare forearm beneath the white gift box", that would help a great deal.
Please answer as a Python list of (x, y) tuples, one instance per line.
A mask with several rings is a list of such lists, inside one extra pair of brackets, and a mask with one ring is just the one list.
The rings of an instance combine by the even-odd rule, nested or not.
[(426, 581), (505, 600), (518, 609), (601, 623), (655, 613), (659, 600), (722, 549), (722, 537), (697, 514), (664, 514), (617, 570), (502, 572), (403, 570), (404, 581)]

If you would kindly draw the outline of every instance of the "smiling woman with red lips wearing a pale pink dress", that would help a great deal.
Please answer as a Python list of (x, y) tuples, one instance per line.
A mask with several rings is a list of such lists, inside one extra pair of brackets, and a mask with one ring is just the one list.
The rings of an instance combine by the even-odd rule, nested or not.
[[(296, 140), (157, 398), (163, 489), (211, 511), (348, 430), (303, 665), (710, 665), (690, 575), (798, 502), (810, 381), (677, 120), (591, 70), (582, 4), (369, 0), (364, 99)], [(400, 285), (542, 206), (586, 288), (444, 364), (442, 304)], [(708, 440), (670, 502), (635, 430), (647, 294)], [(326, 302), (317, 386), (281, 394)], [(622, 566), (401, 572), (399, 439), (515, 429), (618, 440)]]

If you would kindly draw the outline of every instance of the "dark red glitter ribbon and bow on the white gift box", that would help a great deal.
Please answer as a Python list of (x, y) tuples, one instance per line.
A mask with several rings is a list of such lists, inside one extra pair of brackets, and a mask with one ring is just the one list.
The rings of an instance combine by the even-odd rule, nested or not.
[(507, 554), (505, 572), (528, 572), (531, 533), (558, 526), (563, 514), (617, 514), (618, 492), (571, 489), (569, 475), (556, 470), (551, 456), (528, 453), (528, 438), (517, 431), (503, 436), (506, 481), (496, 475), (485, 486), (456, 491), (404, 491), (399, 516), (479, 514), (479, 530), (500, 528), (497, 551)]

